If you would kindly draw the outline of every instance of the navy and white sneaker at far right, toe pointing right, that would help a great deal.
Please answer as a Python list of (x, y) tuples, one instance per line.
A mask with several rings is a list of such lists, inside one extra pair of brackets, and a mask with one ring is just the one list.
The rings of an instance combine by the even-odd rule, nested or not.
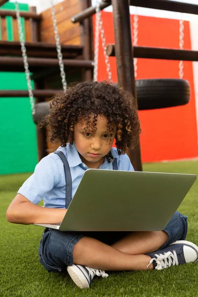
[(153, 269), (161, 270), (179, 264), (198, 262), (198, 247), (191, 242), (180, 240), (147, 255), (151, 257), (148, 266), (153, 263)]

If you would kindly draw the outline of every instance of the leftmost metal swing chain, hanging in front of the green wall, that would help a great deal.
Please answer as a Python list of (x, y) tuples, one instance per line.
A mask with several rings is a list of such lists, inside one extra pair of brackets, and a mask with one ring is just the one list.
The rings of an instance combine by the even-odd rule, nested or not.
[(27, 81), (27, 86), (28, 86), (30, 104), (31, 104), (32, 114), (35, 114), (35, 100), (34, 100), (34, 95), (33, 95), (33, 92), (32, 92), (30, 71), (29, 71), (29, 65), (28, 65), (28, 57), (27, 57), (26, 47), (25, 47), (25, 38), (24, 38), (24, 34), (23, 34), (20, 10), (19, 10), (19, 5), (18, 5), (17, 1), (15, 2), (15, 10), (16, 10), (16, 19), (17, 19), (18, 32), (19, 32), (19, 41), (20, 41), (20, 44), (21, 44), (21, 51), (22, 51), (22, 57), (23, 57), (23, 64), (24, 64), (24, 68), (25, 68), (25, 75), (26, 75), (26, 81)]

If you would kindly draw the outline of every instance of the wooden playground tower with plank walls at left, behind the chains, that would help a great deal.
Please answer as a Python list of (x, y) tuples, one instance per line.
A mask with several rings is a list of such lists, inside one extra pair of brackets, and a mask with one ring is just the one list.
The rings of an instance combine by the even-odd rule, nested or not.
[[(0, 1), (0, 5), (7, 1)], [(81, 11), (91, 5), (90, 0), (78, 0), (72, 3), (72, 7), (68, 1), (61, 2), (56, 5), (58, 12), (58, 21), (70, 23), (67, 17), (72, 16), (71, 13)], [(69, 9), (67, 16), (62, 16), (62, 8)], [(73, 9), (71, 9), (73, 8)], [(7, 41), (6, 36), (6, 20), (5, 17), (12, 17), (13, 42)], [(61, 80), (59, 76), (59, 63), (57, 59), (56, 45), (54, 42), (54, 32), (52, 36), (53, 24), (50, 10), (42, 14), (37, 14), (35, 7), (30, 7), (30, 12), (20, 12), (21, 18), (24, 19), (24, 29), (26, 35), (25, 47), (28, 55), (29, 71), (31, 80), (34, 81), (33, 95), (35, 97), (35, 111), (37, 104), (48, 101), (57, 91), (61, 89)], [(18, 29), (16, 21), (16, 12), (10, 10), (0, 10), (1, 18), (1, 41), (0, 41), (0, 70), (11, 72), (24, 71), (24, 61), (21, 57), (21, 45), (18, 42)], [(73, 27), (75, 30), (73, 30)], [(69, 76), (69, 82), (74, 80), (91, 80), (93, 59), (91, 56), (91, 41), (89, 33), (90, 24), (87, 20), (81, 22), (80, 26), (68, 26), (61, 32), (61, 38), (64, 33), (64, 44), (61, 45), (62, 62)], [(73, 37), (71, 45), (70, 37)], [(53, 37), (53, 38), (51, 38)], [(69, 40), (67, 42), (67, 40)], [(0, 97), (28, 97), (28, 91), (24, 90), (1, 90)], [(47, 102), (48, 104), (48, 102)], [(31, 109), (30, 109), (31, 110)], [(36, 116), (36, 112), (34, 113)], [(38, 115), (39, 116), (39, 115)], [(53, 150), (52, 145), (47, 143), (46, 129), (37, 128), (37, 143), (39, 160)]]

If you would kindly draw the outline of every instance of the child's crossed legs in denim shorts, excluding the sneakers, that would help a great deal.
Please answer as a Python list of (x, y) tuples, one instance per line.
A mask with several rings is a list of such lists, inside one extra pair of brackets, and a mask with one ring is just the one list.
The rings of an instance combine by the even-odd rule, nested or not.
[[(115, 238), (115, 240), (110, 240), (108, 243), (108, 245), (115, 243), (111, 247), (103, 244), (107, 243), (108, 240), (103, 241), (99, 239), (99, 241), (97, 241), (92, 238), (92, 235), (88, 235), (84, 238), (83, 234), (78, 234), (76, 232), (60, 232), (58, 230), (47, 228), (44, 231), (39, 248), (40, 261), (48, 271), (61, 271), (67, 266), (71, 266), (73, 264), (73, 255), (75, 260), (74, 263), (76, 264), (109, 270), (142, 270), (146, 269), (149, 262), (148, 255), (143, 255), (143, 252), (147, 253), (150, 250), (158, 249), (160, 245), (162, 246), (161, 248), (163, 248), (175, 241), (184, 240), (186, 238), (187, 217), (176, 212), (164, 231), (165, 232), (151, 233), (138, 232), (134, 236), (131, 235), (126, 237), (120, 242), (117, 239), (117, 243), (115, 243)], [(167, 234), (168, 241), (166, 237)], [(96, 245), (96, 248), (90, 245), (90, 241)], [(99, 247), (102, 248), (101, 252), (98, 251)], [(119, 248), (122, 251), (118, 250)], [(123, 249), (125, 249), (125, 252), (123, 252)], [(106, 254), (104, 254), (104, 251)], [(132, 253), (134, 253), (134, 255), (132, 255)], [(103, 257), (101, 262), (99, 261), (100, 257)], [(115, 258), (118, 259), (115, 260)], [(107, 265), (105, 264), (105, 261), (110, 263), (111, 259), (113, 262), (111, 262), (111, 265), (113, 267), (109, 268), (108, 266), (108, 268), (106, 268)], [(97, 266), (96, 263), (99, 263), (99, 266)], [(115, 263), (116, 265), (114, 265)], [(149, 268), (151, 268), (151, 265)]]

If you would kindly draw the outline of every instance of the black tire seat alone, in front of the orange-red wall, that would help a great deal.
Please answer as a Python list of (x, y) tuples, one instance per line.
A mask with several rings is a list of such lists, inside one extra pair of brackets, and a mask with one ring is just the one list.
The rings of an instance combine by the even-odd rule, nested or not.
[(136, 80), (138, 109), (156, 109), (185, 105), (190, 100), (190, 86), (183, 79)]

